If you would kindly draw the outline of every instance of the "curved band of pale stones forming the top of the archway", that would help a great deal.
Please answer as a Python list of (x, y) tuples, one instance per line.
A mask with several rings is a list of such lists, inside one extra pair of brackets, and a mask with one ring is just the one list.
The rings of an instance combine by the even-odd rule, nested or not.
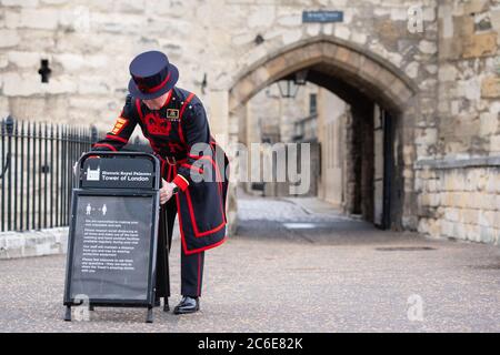
[(418, 88), (407, 75), (378, 54), (347, 41), (319, 36), (271, 53), (244, 69), (229, 92), (234, 112), (257, 92), (303, 68), (324, 65), (330, 75), (356, 87), (373, 101), (398, 113), (406, 111)]

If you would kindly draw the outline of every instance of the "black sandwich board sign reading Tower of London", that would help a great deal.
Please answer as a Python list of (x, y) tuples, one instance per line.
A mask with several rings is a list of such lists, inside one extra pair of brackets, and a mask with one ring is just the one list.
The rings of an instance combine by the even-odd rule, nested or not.
[(89, 152), (72, 191), (64, 286), (71, 306), (148, 308), (152, 322), (160, 163), (148, 153)]

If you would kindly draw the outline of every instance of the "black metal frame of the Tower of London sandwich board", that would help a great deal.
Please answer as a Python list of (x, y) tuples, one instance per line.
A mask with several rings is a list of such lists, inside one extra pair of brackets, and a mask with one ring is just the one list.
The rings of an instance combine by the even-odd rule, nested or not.
[[(147, 159), (153, 163), (153, 189), (99, 189), (99, 187), (82, 187), (82, 166), (86, 160), (89, 158), (99, 159), (112, 159), (130, 158), (130, 159)], [(109, 300), (109, 298), (89, 298), (89, 308), (93, 310), (94, 306), (112, 306), (112, 307), (147, 307), (147, 323), (152, 323), (152, 308), (154, 306), (154, 285), (156, 285), (156, 265), (157, 265), (157, 247), (158, 247), (158, 230), (159, 230), (159, 216), (160, 216), (160, 162), (158, 158), (149, 153), (142, 152), (89, 152), (83, 154), (77, 169), (77, 186), (72, 191), (71, 200), (71, 219), (68, 236), (68, 253), (67, 253), (67, 267), (66, 267), (66, 284), (64, 284), (64, 300), (66, 306), (64, 321), (71, 321), (71, 306), (80, 305), (81, 302), (76, 303), (76, 300), (71, 297), (71, 276), (73, 272), (73, 257), (74, 257), (74, 241), (76, 241), (76, 223), (77, 223), (77, 209), (79, 196), (124, 196), (124, 197), (150, 197), (151, 205), (151, 231), (149, 241), (149, 265), (148, 265), (148, 290), (146, 291), (146, 300)], [(158, 206), (158, 207), (154, 207)]]

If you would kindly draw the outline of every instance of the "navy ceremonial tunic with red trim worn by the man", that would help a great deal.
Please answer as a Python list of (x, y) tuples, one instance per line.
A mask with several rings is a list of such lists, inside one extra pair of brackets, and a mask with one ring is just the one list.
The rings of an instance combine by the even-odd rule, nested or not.
[(166, 104), (151, 111), (141, 100), (129, 95), (112, 131), (93, 144), (92, 150), (120, 150), (137, 124), (161, 161), (163, 179), (180, 187), (174, 199), (184, 253), (222, 244), (229, 161), (210, 135), (201, 101), (174, 88)]

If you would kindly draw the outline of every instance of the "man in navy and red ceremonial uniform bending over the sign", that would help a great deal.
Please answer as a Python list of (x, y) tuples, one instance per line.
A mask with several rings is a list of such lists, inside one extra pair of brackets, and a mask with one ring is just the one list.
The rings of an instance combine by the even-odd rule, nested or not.
[[(161, 161), (161, 219), (157, 257), (157, 303), (170, 296), (166, 286), (167, 224), (170, 246), (176, 214), (181, 235), (181, 294), (174, 314), (199, 311), (204, 251), (226, 241), (228, 159), (210, 135), (201, 101), (177, 88), (178, 69), (166, 54), (149, 51), (130, 63), (131, 79), (123, 110), (94, 151), (118, 151), (137, 124)], [(167, 219), (164, 219), (167, 213)], [(167, 220), (167, 221), (166, 221)], [(162, 247), (163, 245), (163, 247)], [(157, 304), (157, 305), (158, 305)]]

